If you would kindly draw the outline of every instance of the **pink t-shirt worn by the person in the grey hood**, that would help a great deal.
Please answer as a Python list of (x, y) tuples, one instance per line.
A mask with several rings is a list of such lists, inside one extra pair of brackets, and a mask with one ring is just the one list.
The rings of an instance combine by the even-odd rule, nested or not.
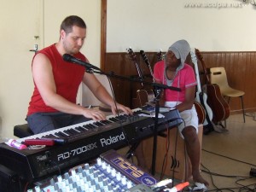
[[(160, 81), (161, 84), (166, 83), (165, 72), (165, 61), (159, 61), (154, 65), (154, 79)], [(195, 72), (194, 69), (185, 63), (184, 67), (179, 70), (172, 82), (172, 87), (180, 88), (181, 91), (166, 89), (165, 101), (166, 102), (184, 102), (185, 101), (185, 90), (188, 87), (195, 86)]]

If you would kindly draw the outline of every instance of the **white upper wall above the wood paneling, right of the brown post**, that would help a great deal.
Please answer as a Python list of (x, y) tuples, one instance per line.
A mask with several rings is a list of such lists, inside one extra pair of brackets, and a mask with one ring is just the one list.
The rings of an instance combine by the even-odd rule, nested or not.
[(107, 51), (166, 51), (181, 38), (204, 51), (255, 50), (255, 8), (242, 0), (108, 0)]

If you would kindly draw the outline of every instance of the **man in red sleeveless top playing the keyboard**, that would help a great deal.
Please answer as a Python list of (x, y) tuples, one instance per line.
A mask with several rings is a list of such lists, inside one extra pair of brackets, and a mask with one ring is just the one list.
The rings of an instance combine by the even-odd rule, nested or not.
[(83, 66), (64, 61), (69, 54), (89, 62), (79, 52), (86, 38), (86, 25), (79, 16), (68, 16), (61, 23), (58, 43), (39, 50), (32, 59), (34, 90), (26, 115), (27, 123), (34, 134), (75, 125), (89, 119), (106, 119), (104, 113), (94, 108), (76, 104), (79, 84), (83, 82), (102, 103), (116, 114), (121, 110), (131, 114), (130, 108), (113, 101), (112, 96), (96, 79), (86, 73)]

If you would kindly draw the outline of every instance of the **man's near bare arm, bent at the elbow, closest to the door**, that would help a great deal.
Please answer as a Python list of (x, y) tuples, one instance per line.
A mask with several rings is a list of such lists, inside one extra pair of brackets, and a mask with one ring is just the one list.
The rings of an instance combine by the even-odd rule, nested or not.
[(105, 119), (105, 115), (94, 109), (83, 108), (76, 103), (67, 101), (56, 93), (56, 86), (49, 59), (44, 54), (35, 56), (32, 63), (32, 75), (44, 103), (64, 113), (84, 115), (92, 119)]

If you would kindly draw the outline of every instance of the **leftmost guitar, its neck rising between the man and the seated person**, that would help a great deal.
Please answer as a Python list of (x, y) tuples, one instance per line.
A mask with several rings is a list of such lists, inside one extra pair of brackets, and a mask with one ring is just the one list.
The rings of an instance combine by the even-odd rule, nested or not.
[[(137, 55), (135, 55), (131, 48), (127, 49), (127, 52), (131, 57), (131, 61), (134, 62), (137, 68), (137, 74), (139, 79), (143, 81), (143, 71), (137, 61)], [(132, 98), (132, 108), (140, 108), (144, 106), (147, 102), (154, 102), (154, 91), (146, 90), (142, 83), (142, 89), (137, 90), (137, 98)]]

